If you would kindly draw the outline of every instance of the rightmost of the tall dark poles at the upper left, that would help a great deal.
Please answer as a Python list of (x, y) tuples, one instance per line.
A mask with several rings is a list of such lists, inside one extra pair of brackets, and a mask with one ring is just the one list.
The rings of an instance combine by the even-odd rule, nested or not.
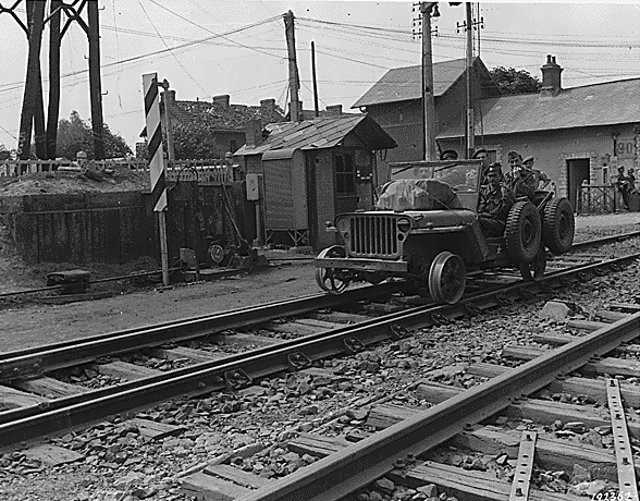
[(98, 0), (87, 3), (89, 39), (89, 94), (91, 101), (91, 129), (94, 131), (94, 158), (104, 159), (104, 125), (102, 118), (102, 84), (100, 80), (100, 29)]

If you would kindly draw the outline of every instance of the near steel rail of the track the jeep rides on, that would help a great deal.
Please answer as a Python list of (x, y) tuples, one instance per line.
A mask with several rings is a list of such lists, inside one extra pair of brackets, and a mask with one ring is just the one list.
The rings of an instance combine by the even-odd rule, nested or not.
[[(573, 270), (553, 273), (541, 282), (558, 280), (586, 272), (589, 269), (611, 267), (637, 259), (640, 254), (624, 256), (598, 264), (584, 265)], [(517, 282), (501, 289), (501, 293), (525, 292), (541, 282)], [(455, 305), (427, 305), (386, 315), (379, 319), (332, 331), (319, 332), (274, 346), (246, 352), (218, 361), (197, 364), (163, 372), (151, 378), (131, 381), (118, 387), (47, 401), (41, 405), (19, 407), (0, 413), (0, 447), (29, 440), (42, 435), (86, 425), (107, 415), (141, 408), (153, 403), (184, 394), (207, 393), (235, 387), (235, 381), (271, 376), (285, 370), (299, 369), (313, 361), (341, 353), (366, 350), (367, 346), (395, 338), (402, 326), (405, 329), (435, 325), (439, 316), (446, 318), (468, 315), (475, 304), (502, 304), (497, 291), (478, 293)]]

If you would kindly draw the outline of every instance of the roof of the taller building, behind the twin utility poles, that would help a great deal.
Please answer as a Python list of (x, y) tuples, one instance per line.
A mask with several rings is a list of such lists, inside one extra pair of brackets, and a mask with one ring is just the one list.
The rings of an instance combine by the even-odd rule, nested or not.
[[(477, 59), (477, 58), (476, 58)], [(433, 96), (441, 96), (465, 73), (466, 60), (454, 59), (433, 63)], [(422, 66), (405, 66), (389, 70), (380, 81), (365, 93), (352, 108), (382, 105), (384, 102), (421, 99)]]

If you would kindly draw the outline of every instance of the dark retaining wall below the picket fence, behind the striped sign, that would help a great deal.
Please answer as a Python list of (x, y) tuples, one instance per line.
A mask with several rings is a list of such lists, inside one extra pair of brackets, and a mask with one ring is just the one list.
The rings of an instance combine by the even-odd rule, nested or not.
[[(207, 260), (211, 243), (237, 243), (250, 235), (254, 209), (244, 183), (180, 182), (169, 191), (170, 259), (181, 247)], [(124, 264), (140, 256), (160, 262), (157, 215), (151, 195), (139, 192), (0, 197), (0, 242), (11, 242), (27, 264)]]

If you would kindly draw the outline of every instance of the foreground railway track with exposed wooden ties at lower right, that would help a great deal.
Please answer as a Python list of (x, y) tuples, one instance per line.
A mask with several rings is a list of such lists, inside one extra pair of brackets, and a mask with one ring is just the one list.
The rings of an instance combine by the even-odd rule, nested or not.
[[(640, 306), (595, 318), (507, 346), (516, 367), (470, 365), (463, 372), (485, 382), (466, 391), (420, 381), (428, 410), (373, 405), (366, 419), (380, 431), (357, 443), (304, 433), (290, 449), (324, 459), (238, 499), (371, 499), (404, 486), (465, 500), (638, 500)], [(212, 474), (198, 475), (206, 485)]]

